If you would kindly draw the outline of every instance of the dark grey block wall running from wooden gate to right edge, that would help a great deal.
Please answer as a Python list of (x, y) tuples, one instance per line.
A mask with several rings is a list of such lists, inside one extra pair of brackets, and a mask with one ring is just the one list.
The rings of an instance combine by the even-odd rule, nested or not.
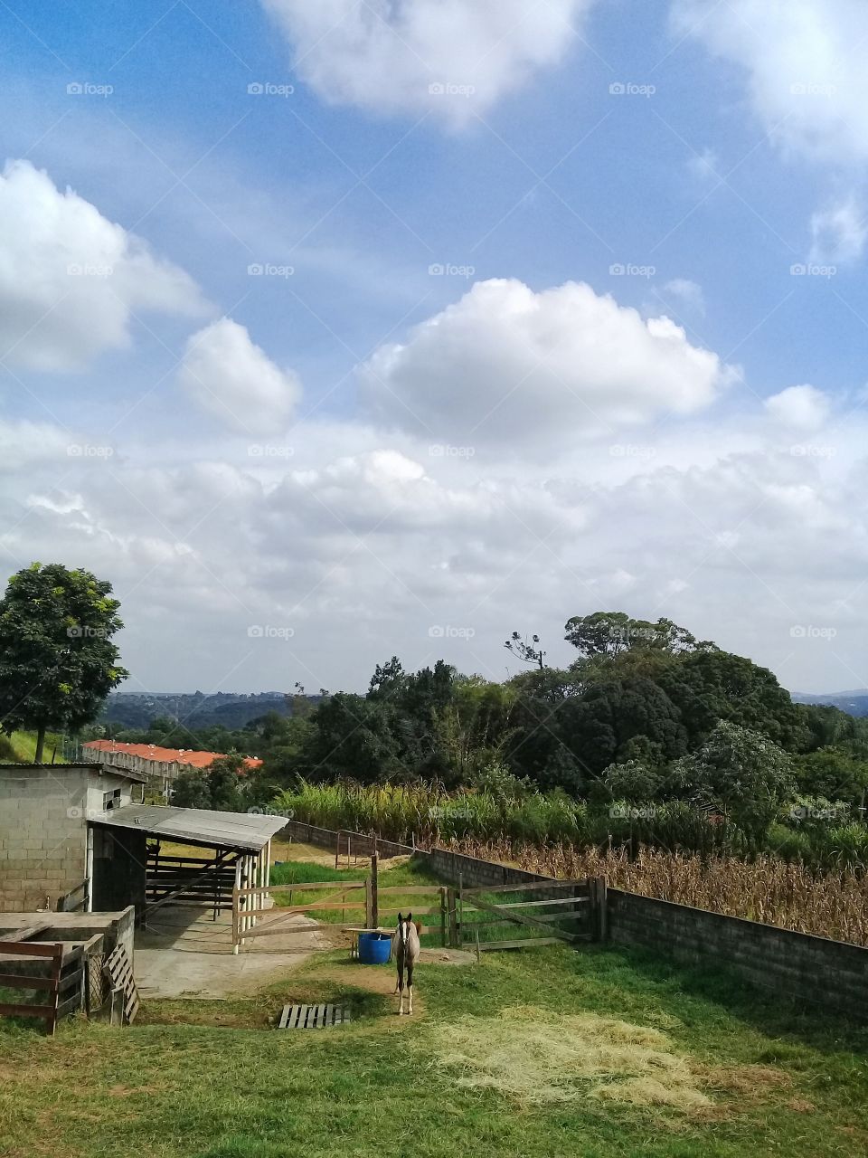
[(609, 936), (868, 1020), (868, 948), (609, 889)]

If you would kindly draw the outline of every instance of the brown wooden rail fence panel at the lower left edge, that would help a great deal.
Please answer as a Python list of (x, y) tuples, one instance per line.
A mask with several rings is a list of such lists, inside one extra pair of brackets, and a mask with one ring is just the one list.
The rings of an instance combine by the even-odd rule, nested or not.
[[(101, 939), (101, 938), (100, 938)], [(84, 1005), (84, 948), (67, 948), (61, 943), (0, 941), (0, 957), (30, 958), (32, 973), (3, 972), (10, 968), (0, 960), (0, 989), (21, 989), (46, 995), (45, 1002), (0, 1003), (0, 1017), (42, 1018), (46, 1033), (53, 1035), (58, 1021)], [(49, 965), (47, 975), (45, 963)]]

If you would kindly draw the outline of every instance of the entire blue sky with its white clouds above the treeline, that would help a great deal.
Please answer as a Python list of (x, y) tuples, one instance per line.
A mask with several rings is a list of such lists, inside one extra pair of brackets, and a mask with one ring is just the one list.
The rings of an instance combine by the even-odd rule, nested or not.
[(3, 6), (7, 570), (110, 578), (130, 690), (499, 679), (621, 606), (868, 686), (866, 37), (855, 0)]

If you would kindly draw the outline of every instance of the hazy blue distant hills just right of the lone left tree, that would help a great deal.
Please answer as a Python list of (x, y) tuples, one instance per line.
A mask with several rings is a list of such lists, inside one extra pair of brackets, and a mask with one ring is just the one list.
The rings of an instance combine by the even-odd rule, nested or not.
[(164, 716), (182, 721), (189, 728), (222, 724), (223, 727), (233, 730), (244, 727), (266, 712), (290, 716), (290, 701), (281, 691), (250, 695), (218, 691), (212, 696), (204, 691), (115, 691), (105, 701), (100, 723), (147, 728), (153, 719)]

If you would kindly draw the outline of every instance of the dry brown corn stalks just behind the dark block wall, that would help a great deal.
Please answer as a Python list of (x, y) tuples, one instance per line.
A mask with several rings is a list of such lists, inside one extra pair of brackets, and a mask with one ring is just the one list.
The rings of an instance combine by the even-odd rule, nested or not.
[(625, 892), (868, 947), (868, 880), (849, 872), (816, 874), (771, 856), (742, 860), (648, 848), (632, 859), (624, 849), (565, 844), (454, 841), (449, 848), (564, 879), (605, 877)]

